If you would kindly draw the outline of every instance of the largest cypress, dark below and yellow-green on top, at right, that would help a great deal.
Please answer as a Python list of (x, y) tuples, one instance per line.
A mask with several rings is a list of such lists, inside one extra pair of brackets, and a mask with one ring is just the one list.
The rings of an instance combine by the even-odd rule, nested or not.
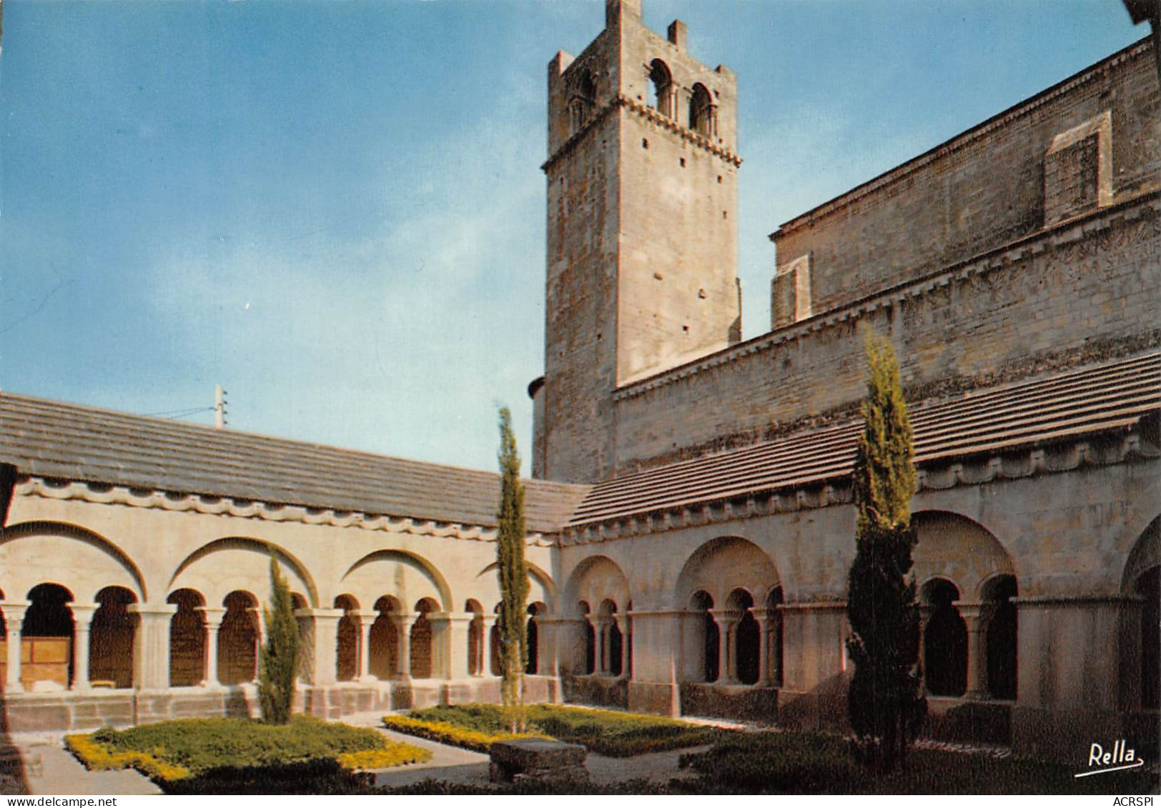
[(848, 577), (846, 641), (854, 662), (848, 712), (858, 759), (894, 769), (926, 713), (920, 692), (920, 613), (911, 575), (911, 425), (890, 342), (868, 332), (867, 397), (852, 474), (856, 555)]

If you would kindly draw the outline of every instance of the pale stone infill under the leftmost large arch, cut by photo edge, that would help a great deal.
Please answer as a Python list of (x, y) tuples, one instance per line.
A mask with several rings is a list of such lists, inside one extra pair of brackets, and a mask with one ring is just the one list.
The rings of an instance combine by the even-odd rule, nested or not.
[[(71, 563), (63, 565), (62, 558)], [(106, 586), (123, 586), (146, 600), (145, 576), (129, 555), (99, 533), (77, 525), (30, 521), (0, 531), (0, 584), (27, 592), (38, 583), (59, 583), (82, 603)]]

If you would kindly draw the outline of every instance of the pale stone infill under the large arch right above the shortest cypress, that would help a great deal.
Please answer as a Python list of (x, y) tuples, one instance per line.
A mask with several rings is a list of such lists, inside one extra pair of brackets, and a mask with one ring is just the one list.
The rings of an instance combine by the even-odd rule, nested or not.
[(219, 603), (230, 592), (250, 590), (258, 583), (264, 584), (265, 592), (272, 555), (289, 572), (290, 587), (304, 591), (310, 605), (317, 607), (318, 587), (307, 565), (286, 548), (251, 536), (226, 536), (202, 544), (181, 560), (167, 589), (193, 589), (210, 603)]

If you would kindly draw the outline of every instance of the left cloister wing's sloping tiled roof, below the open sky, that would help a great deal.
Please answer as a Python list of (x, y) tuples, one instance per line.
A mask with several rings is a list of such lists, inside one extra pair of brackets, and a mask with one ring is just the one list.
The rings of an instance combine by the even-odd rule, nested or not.
[[(42, 477), (491, 527), (499, 475), (0, 395), (0, 462)], [(589, 490), (525, 481), (529, 531)]]

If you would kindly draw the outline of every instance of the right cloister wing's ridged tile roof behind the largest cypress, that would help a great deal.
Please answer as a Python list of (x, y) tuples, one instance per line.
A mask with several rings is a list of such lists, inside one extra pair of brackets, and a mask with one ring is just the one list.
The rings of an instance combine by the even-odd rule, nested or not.
[[(1018, 382), (911, 409), (917, 464), (1122, 430), (1161, 409), (1161, 354)], [(861, 420), (596, 485), (570, 525), (720, 502), (849, 475)]]

